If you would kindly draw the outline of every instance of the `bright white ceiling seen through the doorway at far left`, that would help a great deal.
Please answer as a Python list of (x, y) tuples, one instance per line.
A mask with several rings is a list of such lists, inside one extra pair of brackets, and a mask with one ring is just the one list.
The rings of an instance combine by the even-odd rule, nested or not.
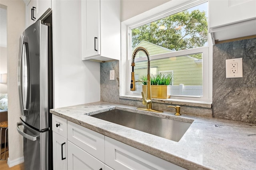
[(0, 8), (0, 46), (7, 47), (6, 9)]

